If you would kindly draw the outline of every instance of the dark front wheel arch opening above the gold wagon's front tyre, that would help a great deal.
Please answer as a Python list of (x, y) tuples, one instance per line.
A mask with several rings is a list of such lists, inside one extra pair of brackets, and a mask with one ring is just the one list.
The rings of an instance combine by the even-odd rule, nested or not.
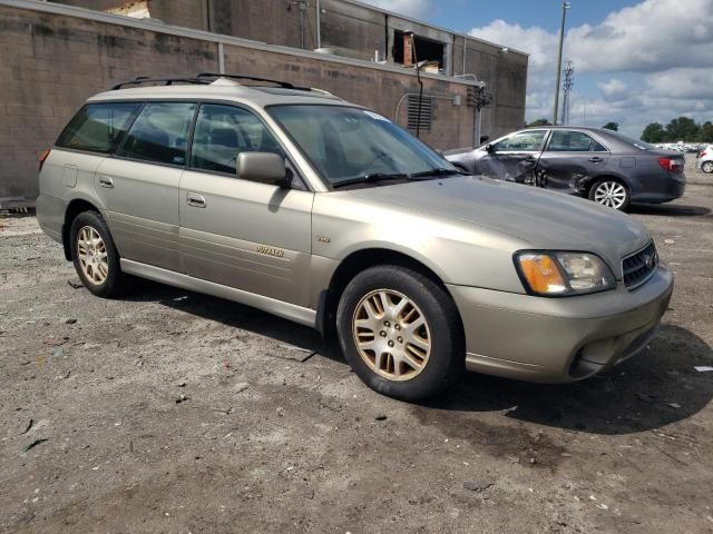
[[(408, 267), (428, 277), (443, 289), (446, 295), (448, 295), (456, 306), (456, 301), (442, 278), (423, 261), (406, 253), (390, 248), (364, 248), (352, 251), (339, 264), (332, 274), (330, 285), (320, 295), (316, 326), (324, 337), (331, 336), (335, 333), (336, 307), (346, 285), (362, 270), (378, 265)], [(456, 309), (458, 309), (457, 306)], [(460, 320), (460, 313), (458, 314), (458, 317)], [(462, 323), (460, 323), (458, 327), (461, 334), (463, 334)]]

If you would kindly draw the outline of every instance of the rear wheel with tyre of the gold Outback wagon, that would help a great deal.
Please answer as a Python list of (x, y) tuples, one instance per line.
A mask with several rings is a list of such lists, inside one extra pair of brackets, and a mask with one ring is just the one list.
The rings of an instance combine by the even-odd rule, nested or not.
[(114, 297), (126, 285), (106, 221), (97, 211), (75, 217), (70, 229), (70, 249), (75, 269), (82, 284), (99, 297)]

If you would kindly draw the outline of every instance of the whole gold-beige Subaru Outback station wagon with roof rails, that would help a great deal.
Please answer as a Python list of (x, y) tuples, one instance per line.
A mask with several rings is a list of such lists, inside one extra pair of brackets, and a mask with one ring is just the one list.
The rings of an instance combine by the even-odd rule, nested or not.
[(673, 288), (628, 216), (465, 176), (381, 115), (287, 82), (121, 83), (70, 120), (39, 180), (40, 225), (92, 294), (134, 275), (335, 333), (364, 383), (407, 400), (465, 369), (593, 376), (646, 346)]

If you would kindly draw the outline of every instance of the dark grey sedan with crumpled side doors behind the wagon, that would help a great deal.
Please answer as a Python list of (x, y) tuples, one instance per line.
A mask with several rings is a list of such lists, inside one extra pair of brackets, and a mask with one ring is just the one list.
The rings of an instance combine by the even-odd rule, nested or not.
[(577, 195), (609, 208), (661, 204), (683, 195), (685, 160), (618, 131), (543, 127), (477, 149), (446, 152), (461, 170)]

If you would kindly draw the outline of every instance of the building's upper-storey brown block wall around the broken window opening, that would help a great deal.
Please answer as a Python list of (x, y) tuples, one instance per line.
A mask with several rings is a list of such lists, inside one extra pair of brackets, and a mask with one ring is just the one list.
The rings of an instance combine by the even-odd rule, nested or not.
[[(59, 0), (90, 9), (106, 9), (126, 0)], [(301, 46), (300, 10), (286, 10), (286, 0), (148, 0), (152, 17), (166, 23), (185, 26), (256, 41), (299, 48)], [(463, 37), (442, 28), (397, 16), (350, 0), (320, 0), (322, 47), (340, 55), (371, 60), (374, 51), (393, 60), (394, 30), (413, 30), (420, 37), (445, 43), (445, 71), (463, 73)], [(206, 10), (209, 22), (206, 22)], [(304, 43), (316, 47), (316, 7), (310, 0), (305, 11)], [(385, 55), (385, 56), (384, 56)], [(484, 112), (482, 134), (499, 137), (525, 123), (527, 56), (502, 52), (497, 44), (468, 39), (466, 73), (488, 85), (494, 96)]]

